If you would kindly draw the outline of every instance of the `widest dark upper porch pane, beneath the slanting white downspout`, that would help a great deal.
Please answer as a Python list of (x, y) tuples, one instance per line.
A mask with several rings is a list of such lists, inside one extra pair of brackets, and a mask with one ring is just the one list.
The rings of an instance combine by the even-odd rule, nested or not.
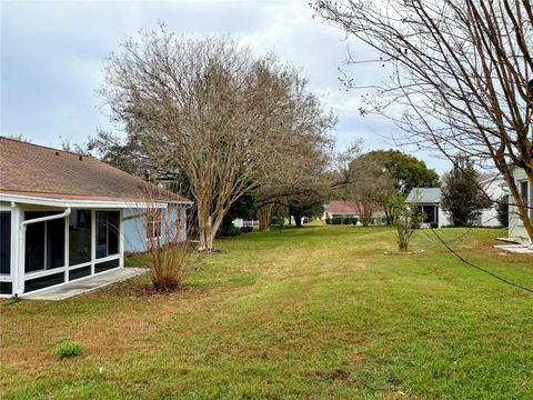
[[(26, 212), (24, 219), (57, 212)], [(24, 271), (33, 272), (64, 266), (64, 218), (29, 223), (26, 228)]]

